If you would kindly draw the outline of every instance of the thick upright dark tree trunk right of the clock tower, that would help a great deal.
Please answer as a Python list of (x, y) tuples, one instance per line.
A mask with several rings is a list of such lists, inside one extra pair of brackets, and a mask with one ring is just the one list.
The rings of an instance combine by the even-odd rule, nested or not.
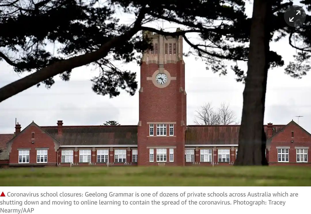
[(239, 151), (234, 165), (268, 164), (265, 157), (266, 135), (263, 130), (263, 116), (269, 67), (270, 1), (254, 0)]

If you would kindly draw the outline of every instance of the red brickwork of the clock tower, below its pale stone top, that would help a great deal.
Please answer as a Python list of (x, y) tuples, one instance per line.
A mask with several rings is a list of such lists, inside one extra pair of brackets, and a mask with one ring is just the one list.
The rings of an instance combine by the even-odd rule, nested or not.
[[(184, 86), (184, 65), (169, 63), (164, 69), (176, 80), (171, 80), (165, 88), (156, 87), (152, 80), (146, 80), (158, 70), (158, 64), (141, 65), (141, 87), (139, 93), (139, 121), (138, 126), (138, 165), (158, 165), (155, 161), (149, 162), (149, 148), (147, 146), (176, 146), (174, 149), (174, 162), (169, 162), (169, 149), (167, 149), (167, 162), (165, 165), (184, 165), (184, 142), (186, 126), (181, 126), (181, 121), (186, 124), (186, 95), (179, 89)], [(149, 137), (149, 124), (155, 122), (154, 137)], [(156, 122), (176, 122), (174, 124), (174, 136), (169, 136), (169, 123), (167, 124), (167, 137), (156, 136)]]

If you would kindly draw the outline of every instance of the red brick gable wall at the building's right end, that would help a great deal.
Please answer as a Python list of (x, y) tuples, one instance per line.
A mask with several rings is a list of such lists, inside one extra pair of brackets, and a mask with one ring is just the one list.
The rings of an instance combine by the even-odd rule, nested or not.
[[(291, 132), (294, 132), (294, 137), (291, 137)], [(291, 142), (293, 140), (294, 142)], [(311, 163), (311, 136), (306, 131), (302, 130), (294, 122), (288, 124), (283, 130), (281, 130), (275, 137), (272, 138), (271, 142), (267, 144), (270, 146), (270, 151), (267, 151), (269, 157), (269, 164), (286, 165), (289, 163), (296, 162), (296, 149), (295, 147), (309, 147), (308, 149), (308, 162)], [(279, 162), (277, 159), (277, 146), (288, 146), (289, 149), (289, 163)], [(297, 163), (305, 164), (305, 163)]]

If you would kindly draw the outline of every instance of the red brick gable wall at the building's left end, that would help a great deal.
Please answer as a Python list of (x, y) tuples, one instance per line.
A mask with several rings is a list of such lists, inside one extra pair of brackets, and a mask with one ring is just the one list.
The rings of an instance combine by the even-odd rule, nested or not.
[[(32, 138), (32, 132), (35, 133), (35, 139)], [(35, 143), (32, 144), (31, 142)], [(53, 138), (46, 134), (43, 130), (35, 125), (30, 125), (26, 130), (23, 130), (12, 142), (12, 149), (10, 152), (10, 164), (18, 163), (17, 148), (30, 148), (29, 163), (37, 163), (37, 150), (35, 148), (49, 148), (48, 149), (48, 163), (56, 163), (56, 152)]]

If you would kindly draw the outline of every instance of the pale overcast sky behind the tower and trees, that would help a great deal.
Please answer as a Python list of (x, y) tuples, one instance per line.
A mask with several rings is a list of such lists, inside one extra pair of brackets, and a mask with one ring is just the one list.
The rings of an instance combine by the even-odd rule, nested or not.
[[(247, 5), (251, 13), (251, 5)], [(132, 21), (124, 17), (124, 21)], [(158, 28), (162, 27), (157, 23)], [(166, 30), (175, 30), (178, 25), (164, 24)], [(184, 52), (189, 46), (184, 42)], [(293, 59), (295, 50), (288, 45), (288, 38), (271, 43), (270, 49), (283, 56), (285, 64)], [(236, 82), (233, 72), (219, 76), (206, 70), (205, 63), (194, 57), (184, 57), (186, 68), (187, 125), (193, 124), (194, 114), (204, 102), (211, 102), (217, 108), (221, 102), (230, 103), (238, 121), (241, 121), (244, 84)], [(137, 72), (136, 62), (120, 65), (126, 70)], [(266, 111), (264, 124), (287, 124), (292, 119), (311, 132), (311, 74), (302, 79), (293, 79), (284, 74), (284, 67), (268, 72)], [(244, 70), (247, 68), (244, 66)], [(122, 125), (138, 123), (138, 91), (130, 96), (122, 91), (118, 97), (96, 95), (90, 79), (98, 73), (91, 67), (79, 67), (72, 71), (71, 80), (64, 82), (58, 76), (51, 89), (43, 85), (31, 87), (7, 100), (0, 102), (0, 133), (13, 133), (15, 118), (22, 129), (35, 121), (38, 125), (56, 125), (63, 120), (64, 125), (101, 125), (115, 120)], [(0, 87), (20, 78), (11, 66), (0, 62)], [(139, 89), (138, 85), (138, 89)], [(137, 90), (138, 90), (137, 89)]]

